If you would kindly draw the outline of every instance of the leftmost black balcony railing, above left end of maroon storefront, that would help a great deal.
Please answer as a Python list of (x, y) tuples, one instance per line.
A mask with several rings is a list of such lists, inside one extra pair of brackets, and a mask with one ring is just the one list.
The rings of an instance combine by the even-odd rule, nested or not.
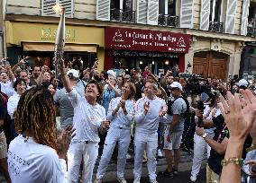
[(110, 10), (110, 20), (117, 22), (135, 22), (135, 11), (123, 11), (121, 9)]

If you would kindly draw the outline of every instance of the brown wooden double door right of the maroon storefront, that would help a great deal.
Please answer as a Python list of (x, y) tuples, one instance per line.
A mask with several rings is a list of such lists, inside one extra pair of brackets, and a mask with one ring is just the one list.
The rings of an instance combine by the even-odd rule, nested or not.
[(227, 56), (219, 52), (198, 52), (194, 55), (193, 73), (226, 79)]

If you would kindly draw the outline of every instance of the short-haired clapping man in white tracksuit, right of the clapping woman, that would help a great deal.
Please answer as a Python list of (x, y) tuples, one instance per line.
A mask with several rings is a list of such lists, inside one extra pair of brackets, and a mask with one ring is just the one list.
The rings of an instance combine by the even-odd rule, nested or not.
[(165, 100), (156, 96), (158, 86), (156, 83), (147, 81), (144, 87), (145, 97), (138, 100), (135, 106), (136, 130), (134, 137), (134, 181), (140, 183), (142, 176), (142, 159), (144, 150), (148, 157), (148, 171), (151, 183), (156, 180), (156, 152), (158, 147), (158, 126), (166, 113), (167, 106)]

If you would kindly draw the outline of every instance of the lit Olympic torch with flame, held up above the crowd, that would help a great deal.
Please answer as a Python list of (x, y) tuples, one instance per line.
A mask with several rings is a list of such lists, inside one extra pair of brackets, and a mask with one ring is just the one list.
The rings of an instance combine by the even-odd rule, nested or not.
[(61, 58), (65, 48), (65, 8), (56, 4), (52, 8), (56, 13), (60, 14), (59, 26), (56, 33), (54, 60), (55, 60), (55, 77), (58, 77)]

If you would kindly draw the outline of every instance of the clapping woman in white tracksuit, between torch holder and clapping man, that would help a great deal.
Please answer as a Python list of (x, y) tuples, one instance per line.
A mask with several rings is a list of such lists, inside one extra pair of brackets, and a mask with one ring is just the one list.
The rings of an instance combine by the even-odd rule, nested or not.
[(130, 128), (134, 117), (135, 102), (133, 97), (135, 92), (136, 88), (133, 83), (124, 83), (122, 96), (110, 101), (107, 119), (111, 123), (105, 137), (104, 150), (97, 169), (95, 183), (102, 182), (116, 143), (118, 143), (117, 180), (120, 183), (126, 183), (123, 178), (123, 171), (126, 163), (126, 154), (131, 142)]

